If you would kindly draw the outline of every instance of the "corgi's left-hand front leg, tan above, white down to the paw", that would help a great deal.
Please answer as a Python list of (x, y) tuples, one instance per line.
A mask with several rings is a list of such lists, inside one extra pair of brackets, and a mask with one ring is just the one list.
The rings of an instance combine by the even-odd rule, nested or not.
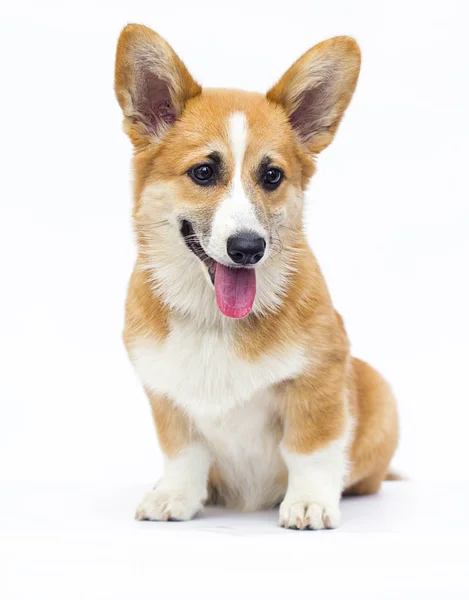
[(164, 475), (144, 497), (135, 518), (187, 521), (207, 499), (210, 454), (177, 406), (164, 396), (148, 393), (148, 397), (164, 453)]

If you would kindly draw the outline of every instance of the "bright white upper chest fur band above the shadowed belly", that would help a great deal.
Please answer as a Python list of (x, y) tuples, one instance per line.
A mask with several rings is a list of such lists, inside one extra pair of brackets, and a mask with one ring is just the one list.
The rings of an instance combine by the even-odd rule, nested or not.
[(173, 323), (163, 342), (136, 340), (130, 356), (149, 390), (165, 394), (195, 419), (226, 415), (255, 394), (299, 374), (305, 363), (299, 347), (249, 362), (236, 354), (232, 330), (188, 322)]

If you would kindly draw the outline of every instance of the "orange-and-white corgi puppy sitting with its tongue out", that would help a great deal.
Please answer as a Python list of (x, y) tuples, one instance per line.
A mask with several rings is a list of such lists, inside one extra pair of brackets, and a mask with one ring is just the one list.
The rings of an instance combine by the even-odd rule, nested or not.
[(120, 35), (138, 243), (124, 342), (165, 464), (137, 519), (280, 504), (282, 527), (331, 529), (343, 493), (388, 476), (393, 394), (350, 356), (302, 220), (359, 68), (336, 37), (266, 95), (202, 89), (151, 29)]

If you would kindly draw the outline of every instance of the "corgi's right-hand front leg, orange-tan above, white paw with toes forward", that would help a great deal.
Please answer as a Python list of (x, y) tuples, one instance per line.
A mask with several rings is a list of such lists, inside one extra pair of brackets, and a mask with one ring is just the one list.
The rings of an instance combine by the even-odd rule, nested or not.
[(342, 365), (322, 377), (287, 384), (281, 452), (288, 488), (280, 505), (280, 525), (290, 529), (332, 529), (347, 472), (349, 418)]

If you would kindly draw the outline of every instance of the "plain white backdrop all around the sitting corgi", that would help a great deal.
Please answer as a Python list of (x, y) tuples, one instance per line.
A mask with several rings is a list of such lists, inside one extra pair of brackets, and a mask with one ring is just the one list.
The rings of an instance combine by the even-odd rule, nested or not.
[[(425, 536), (448, 523), (468, 530), (467, 17), (462, 0), (1, 0), (3, 597), (206, 597), (204, 577), (234, 597), (233, 572), (245, 593), (271, 597), (320, 584), (321, 600), (341, 590), (463, 597), (467, 538), (450, 530), (432, 546)], [(212, 515), (217, 531), (241, 537), (214, 536), (202, 520), (172, 530), (132, 521), (161, 457), (120, 338), (135, 250), (113, 60), (127, 22), (157, 30), (211, 87), (267, 90), (334, 35), (362, 48), (307, 229), (354, 353), (397, 394), (394, 464), (413, 483), (346, 505), (352, 529), (281, 535), (273, 513)], [(420, 525), (405, 537), (410, 515)]]

